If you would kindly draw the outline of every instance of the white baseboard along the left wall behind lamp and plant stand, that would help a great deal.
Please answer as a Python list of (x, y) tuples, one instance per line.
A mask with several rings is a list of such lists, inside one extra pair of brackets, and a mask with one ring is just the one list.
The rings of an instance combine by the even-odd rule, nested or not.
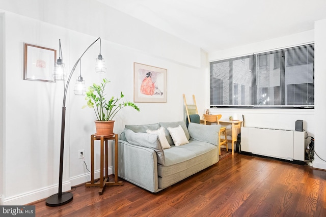
[[(105, 173), (105, 171), (104, 171)], [(113, 174), (112, 166), (108, 168), (108, 174)], [(100, 177), (100, 171), (95, 171), (95, 178)], [(62, 192), (69, 191), (71, 186), (82, 184), (91, 180), (91, 174), (86, 173), (78, 176), (71, 177), (69, 181), (62, 183)], [(0, 195), (0, 205), (25, 205), (37, 200), (48, 198), (51, 195), (58, 193), (59, 185), (52, 185), (47, 188), (39, 189), (32, 192), (27, 192), (10, 198), (5, 198)], [(44, 202), (45, 203), (45, 202)]]

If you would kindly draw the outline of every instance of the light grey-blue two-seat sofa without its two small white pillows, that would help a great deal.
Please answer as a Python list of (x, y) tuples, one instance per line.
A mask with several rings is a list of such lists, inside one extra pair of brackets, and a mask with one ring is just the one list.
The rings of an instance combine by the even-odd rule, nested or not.
[[(175, 146), (167, 128), (179, 125), (189, 143)], [(171, 148), (160, 149), (158, 136), (146, 133), (160, 127)], [(126, 125), (118, 144), (118, 176), (150, 192), (161, 191), (219, 161), (220, 127), (189, 123), (187, 128), (184, 121)]]

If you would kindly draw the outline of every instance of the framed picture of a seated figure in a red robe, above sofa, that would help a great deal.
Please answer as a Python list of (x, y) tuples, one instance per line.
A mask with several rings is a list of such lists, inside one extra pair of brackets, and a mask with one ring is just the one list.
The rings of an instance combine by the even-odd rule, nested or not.
[(167, 70), (144, 64), (133, 64), (134, 102), (167, 102)]

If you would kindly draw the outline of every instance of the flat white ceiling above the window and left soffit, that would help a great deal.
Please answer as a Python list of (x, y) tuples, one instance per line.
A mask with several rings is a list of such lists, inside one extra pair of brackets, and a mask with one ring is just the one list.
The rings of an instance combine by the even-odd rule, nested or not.
[(326, 0), (97, 0), (207, 52), (314, 29)]

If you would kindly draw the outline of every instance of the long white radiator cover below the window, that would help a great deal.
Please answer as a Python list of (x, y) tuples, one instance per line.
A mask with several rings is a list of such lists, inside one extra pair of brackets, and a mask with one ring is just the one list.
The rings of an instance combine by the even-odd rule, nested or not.
[(241, 128), (241, 151), (286, 160), (305, 161), (305, 131)]

